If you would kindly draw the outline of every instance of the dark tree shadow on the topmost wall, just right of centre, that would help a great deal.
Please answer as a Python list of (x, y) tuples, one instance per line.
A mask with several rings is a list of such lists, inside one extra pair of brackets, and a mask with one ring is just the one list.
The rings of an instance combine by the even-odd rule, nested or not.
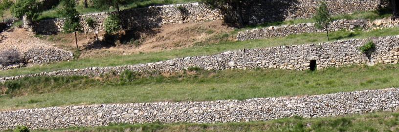
[(239, 14), (243, 25), (254, 25), (272, 21), (283, 21), (289, 14), (294, 14), (297, 0), (244, 0), (241, 10), (223, 9), (223, 19), (229, 26), (237, 27)]

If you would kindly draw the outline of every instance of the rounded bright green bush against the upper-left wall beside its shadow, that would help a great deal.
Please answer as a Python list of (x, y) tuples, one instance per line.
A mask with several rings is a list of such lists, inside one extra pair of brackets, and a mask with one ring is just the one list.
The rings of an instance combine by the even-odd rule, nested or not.
[(104, 21), (105, 31), (108, 34), (116, 34), (116, 33), (118, 33), (119, 30), (121, 29), (120, 25), (121, 25), (121, 20), (115, 14), (111, 14)]

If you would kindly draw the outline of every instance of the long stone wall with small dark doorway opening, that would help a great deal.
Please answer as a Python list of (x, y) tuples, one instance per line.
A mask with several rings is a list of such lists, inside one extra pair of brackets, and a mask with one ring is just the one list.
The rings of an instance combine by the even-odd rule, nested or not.
[[(359, 47), (374, 41), (376, 50), (370, 56), (362, 54)], [(136, 72), (158, 71), (178, 72), (190, 67), (205, 70), (276, 68), (286, 70), (308, 70), (310, 61), (315, 60), (317, 68), (340, 67), (353, 64), (396, 64), (399, 61), (399, 36), (350, 39), (319, 44), (279, 46), (265, 49), (243, 49), (227, 51), (212, 56), (184, 57), (147, 64), (117, 67), (89, 67), (85, 69), (43, 72), (31, 75), (2, 77), (0, 82), (33, 76), (98, 76), (109, 73), (122, 73), (125, 70)]]

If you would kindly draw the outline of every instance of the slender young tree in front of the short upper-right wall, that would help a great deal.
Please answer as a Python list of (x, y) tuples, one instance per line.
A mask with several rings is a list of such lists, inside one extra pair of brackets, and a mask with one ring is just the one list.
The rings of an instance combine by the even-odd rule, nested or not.
[(327, 31), (327, 39), (330, 40), (329, 27), (332, 19), (326, 1), (320, 2), (319, 7), (317, 7), (316, 9), (316, 14), (314, 15), (313, 19), (316, 20), (315, 26), (318, 29), (324, 29)]

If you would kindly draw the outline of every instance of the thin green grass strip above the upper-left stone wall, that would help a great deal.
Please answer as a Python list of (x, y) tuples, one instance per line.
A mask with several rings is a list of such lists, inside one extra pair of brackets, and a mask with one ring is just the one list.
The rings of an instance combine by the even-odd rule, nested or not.
[[(129, 0), (128, 0), (129, 1)], [(188, 2), (196, 2), (198, 0), (140, 0), (140, 1), (134, 1), (133, 2), (128, 2), (128, 4), (123, 5), (120, 7), (121, 10), (125, 9), (130, 9), (130, 8), (137, 8), (137, 7), (147, 7), (151, 5), (165, 5), (165, 4), (176, 4), (176, 3), (188, 3)], [(42, 12), (42, 14), (39, 16), (39, 20), (42, 19), (55, 19), (59, 18), (59, 15), (57, 14), (57, 10), (60, 9), (61, 6), (58, 5), (53, 9), (47, 10)], [(85, 8), (83, 4), (79, 4), (76, 6), (76, 10), (80, 14), (89, 14), (89, 13), (98, 13), (98, 12), (104, 12), (103, 10), (96, 9), (95, 7), (89, 6), (89, 8)], [(111, 8), (108, 11), (116, 11), (116, 9)]]

